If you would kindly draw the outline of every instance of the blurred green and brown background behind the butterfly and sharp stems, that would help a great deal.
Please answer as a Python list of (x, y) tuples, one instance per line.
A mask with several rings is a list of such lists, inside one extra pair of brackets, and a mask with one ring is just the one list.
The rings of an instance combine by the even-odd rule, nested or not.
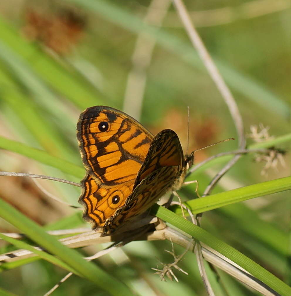
[[(246, 133), (250, 134), (250, 126), (260, 124), (270, 127), (270, 136), (290, 133), (291, 2), (187, 0), (185, 5), (235, 97)], [(173, 129), (184, 151), (187, 106), (190, 150), (237, 137), (226, 104), (167, 0), (1, 1), (0, 85), (0, 135), (80, 166), (75, 126), (80, 112), (93, 105), (123, 110), (154, 134)], [(248, 139), (248, 143), (252, 141)], [(195, 161), (236, 147), (237, 141), (217, 145), (198, 152)], [(279, 148), (288, 150), (288, 143)], [(284, 161), (285, 165), (279, 161), (275, 169), (264, 170), (266, 163), (255, 162), (253, 155), (243, 157), (215, 190), (289, 176), (288, 153)], [(0, 163), (1, 170), (80, 181), (4, 150)], [(219, 168), (197, 177), (201, 192)], [(1, 198), (41, 225), (58, 229), (83, 223), (80, 211), (60, 205), (44, 193), (77, 205), (80, 192), (73, 186), (43, 180), (36, 185), (25, 178), (1, 177), (0, 187)], [(213, 210), (203, 216), (202, 226), (289, 283), (286, 253), (266, 242), (256, 228), (256, 223), (271, 225), (288, 238), (289, 196), (288, 192), (279, 193)], [(253, 223), (245, 223), (246, 217)], [(1, 231), (16, 231), (4, 221), (0, 227)], [(83, 252), (93, 254), (100, 248)], [(177, 272), (179, 283), (161, 282), (153, 275), (156, 258), (172, 262), (164, 249), (170, 249), (169, 242), (132, 242), (97, 264), (140, 295), (206, 295), (193, 254), (180, 263), (189, 276)], [(7, 250), (2, 244), (2, 252)], [(179, 252), (182, 249), (177, 247)], [(64, 274), (38, 260), (2, 272), (0, 285), (18, 295), (43, 295)], [(209, 274), (215, 282), (215, 275)], [(229, 276), (219, 275), (216, 295), (257, 295)], [(53, 295), (70, 293), (105, 295), (77, 276)]]

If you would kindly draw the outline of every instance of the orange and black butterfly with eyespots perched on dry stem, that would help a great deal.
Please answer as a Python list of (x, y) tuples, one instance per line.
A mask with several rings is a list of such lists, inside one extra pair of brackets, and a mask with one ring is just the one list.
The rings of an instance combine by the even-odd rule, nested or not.
[(86, 168), (80, 182), (83, 218), (102, 236), (145, 213), (161, 196), (182, 186), (194, 161), (183, 155), (177, 134), (153, 136), (129, 115), (106, 106), (87, 108), (77, 122)]

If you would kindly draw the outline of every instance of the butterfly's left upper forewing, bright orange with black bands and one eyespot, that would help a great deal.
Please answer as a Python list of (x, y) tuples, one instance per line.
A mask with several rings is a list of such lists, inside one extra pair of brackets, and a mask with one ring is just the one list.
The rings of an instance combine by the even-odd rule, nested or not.
[(95, 106), (81, 113), (77, 139), (88, 173), (96, 183), (113, 186), (135, 180), (153, 136), (125, 113)]

